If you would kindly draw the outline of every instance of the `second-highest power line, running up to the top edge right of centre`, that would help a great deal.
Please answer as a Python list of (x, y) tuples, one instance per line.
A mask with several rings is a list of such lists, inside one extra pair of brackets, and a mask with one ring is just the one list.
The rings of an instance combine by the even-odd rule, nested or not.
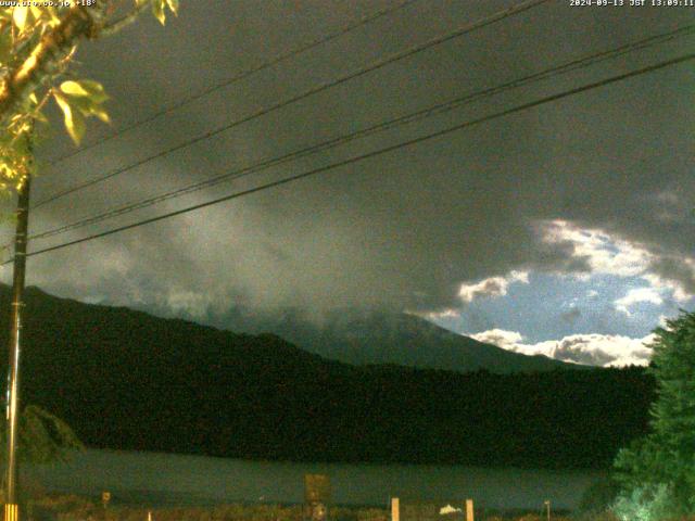
[(249, 116), (244, 116), (241, 119), (237, 119), (235, 122), (225, 124), (225, 125), (223, 125), (220, 127), (217, 127), (215, 129), (208, 130), (208, 131), (206, 131), (206, 132), (204, 132), (202, 135), (199, 135), (199, 136), (197, 136), (194, 138), (191, 138), (191, 139), (189, 139), (187, 141), (184, 141), (182, 143), (176, 144), (174, 147), (170, 147), (168, 149), (160, 151), (156, 154), (150, 155), (149, 157), (146, 157), (143, 160), (137, 161), (136, 163), (132, 163), (132, 164), (130, 164), (128, 166), (124, 166), (124, 167), (117, 168), (117, 169), (115, 169), (115, 170), (113, 170), (113, 171), (111, 171), (109, 174), (105, 174), (105, 175), (103, 175), (101, 177), (98, 177), (96, 179), (92, 179), (92, 180), (76, 185), (76, 186), (74, 186), (72, 188), (68, 188), (66, 190), (60, 191), (60, 192), (58, 192), (58, 193), (55, 193), (55, 194), (53, 194), (53, 195), (51, 195), (51, 196), (49, 196), (49, 198), (47, 198), (47, 199), (45, 199), (42, 201), (39, 201), (38, 203), (36, 203), (34, 205), (34, 208), (38, 208), (38, 207), (43, 206), (43, 205), (46, 205), (48, 203), (56, 201), (58, 199), (61, 199), (61, 198), (63, 198), (65, 195), (68, 195), (71, 193), (75, 193), (75, 192), (77, 192), (79, 190), (83, 190), (85, 188), (94, 186), (94, 185), (97, 185), (99, 182), (103, 182), (106, 179), (111, 179), (114, 176), (117, 176), (117, 175), (123, 174), (125, 171), (131, 170), (132, 168), (136, 168), (138, 166), (142, 166), (146, 163), (149, 163), (151, 161), (154, 161), (154, 160), (157, 160), (157, 158), (163, 157), (165, 155), (168, 155), (172, 152), (176, 152), (178, 150), (185, 149), (185, 148), (190, 147), (192, 144), (195, 144), (198, 142), (201, 142), (201, 141), (204, 141), (206, 139), (210, 139), (210, 138), (212, 138), (214, 136), (217, 136), (220, 132), (224, 132), (226, 130), (229, 130), (229, 129), (231, 129), (233, 127), (237, 127), (237, 126), (242, 125), (244, 123), (248, 123), (250, 120), (256, 119), (258, 117), (265, 116), (265, 115), (267, 115), (267, 114), (269, 114), (271, 112), (275, 112), (275, 111), (279, 110), (279, 109), (288, 106), (288, 105), (290, 105), (292, 103), (295, 103), (298, 101), (304, 100), (304, 99), (306, 99), (306, 98), (308, 98), (311, 96), (317, 94), (319, 92), (323, 92), (325, 90), (331, 89), (333, 87), (338, 87), (339, 85), (342, 85), (342, 84), (344, 84), (346, 81), (350, 81), (352, 79), (355, 79), (357, 77), (364, 76), (364, 75), (366, 75), (368, 73), (371, 73), (371, 72), (377, 71), (377, 69), (379, 69), (381, 67), (384, 67), (384, 66), (387, 66), (387, 65), (389, 65), (391, 63), (394, 63), (394, 62), (397, 62), (397, 61), (403, 60), (405, 58), (412, 56), (412, 55), (417, 54), (419, 52), (422, 52), (422, 51), (425, 51), (427, 49), (430, 49), (430, 48), (432, 48), (434, 46), (439, 46), (441, 43), (450, 41), (450, 40), (452, 40), (454, 38), (458, 38), (460, 36), (467, 35), (467, 34), (469, 34), (469, 33), (471, 33), (473, 30), (477, 30), (477, 29), (480, 29), (480, 28), (485, 27), (488, 25), (494, 24), (494, 23), (500, 22), (500, 21), (502, 21), (504, 18), (507, 18), (509, 16), (522, 13), (525, 11), (528, 11), (528, 10), (534, 8), (534, 7), (538, 7), (538, 5), (540, 5), (542, 3), (545, 3), (545, 2), (548, 2), (548, 1), (549, 0), (526, 0), (526, 1), (522, 1), (522, 2), (516, 4), (516, 5), (511, 7), (511, 8), (507, 8), (505, 10), (498, 11), (498, 12), (496, 12), (496, 13), (490, 15), (490, 16), (481, 18), (481, 20), (479, 20), (477, 22), (473, 22), (471, 24), (467, 24), (467, 25), (456, 29), (453, 33), (448, 33), (448, 34), (446, 34), (444, 36), (439, 36), (439, 37), (433, 38), (433, 39), (431, 39), (431, 40), (429, 40), (429, 41), (427, 41), (425, 43), (421, 43), (419, 46), (415, 46), (415, 47), (412, 47), (412, 48), (406, 49), (404, 51), (397, 52), (397, 53), (392, 54), (392, 55), (390, 55), (390, 56), (388, 56), (388, 58), (386, 58), (383, 60), (379, 60), (379, 61), (377, 61), (377, 62), (375, 62), (375, 63), (372, 63), (370, 65), (367, 65), (366, 67), (363, 67), (363, 68), (361, 68), (361, 69), (358, 69), (356, 72), (349, 73), (345, 76), (341, 76), (338, 79), (321, 84), (321, 85), (319, 85), (317, 87), (313, 87), (313, 88), (311, 88), (308, 90), (305, 90), (304, 92), (302, 92), (302, 93), (300, 93), (300, 94), (298, 94), (298, 96), (295, 96), (293, 98), (290, 98), (288, 100), (278, 102), (278, 103), (276, 103), (274, 105), (270, 105), (270, 106), (267, 106), (265, 109), (261, 109), (260, 111), (256, 111), (255, 113), (253, 113), (253, 114), (251, 114)]

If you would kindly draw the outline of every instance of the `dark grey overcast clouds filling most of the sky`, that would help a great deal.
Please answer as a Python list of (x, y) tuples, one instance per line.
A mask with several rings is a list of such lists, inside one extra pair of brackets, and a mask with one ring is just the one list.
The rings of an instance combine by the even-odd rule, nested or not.
[[(114, 38), (84, 45), (79, 61), (83, 75), (101, 80), (112, 96), (110, 112), (118, 129), (392, 4), (181, 2), (180, 16), (166, 27), (148, 17)], [(513, 4), (415, 1), (45, 169), (35, 183), (35, 200)], [(41, 207), (31, 216), (31, 230), (692, 24), (694, 15), (695, 8), (573, 8), (569, 0), (552, 0)], [(296, 174), (693, 48), (690, 37), (630, 53), (33, 246)], [(498, 283), (495, 289), (495, 280), (533, 285), (551, 276), (584, 282), (609, 276), (614, 285), (628, 284), (618, 290), (624, 297), (642, 289), (633, 295), (637, 303), (648, 304), (650, 290), (662, 303), (688, 305), (695, 293), (694, 71), (688, 62), (319, 177), (37, 256), (29, 263), (28, 283), (80, 300), (168, 309), (203, 321), (233, 306), (263, 313), (285, 307), (454, 310), (458, 320), (478, 297), (506, 294)], [(87, 144), (111, 131), (102, 127), (90, 124)], [(60, 124), (54, 128), (59, 136), (42, 145), (46, 157), (71, 150)], [(604, 243), (587, 250), (581, 238), (590, 236)], [(597, 251), (608, 258), (599, 258)], [(635, 252), (641, 268), (618, 272), (624, 255)], [(530, 274), (531, 280), (519, 272)], [(643, 283), (635, 285), (635, 277)], [(484, 287), (486, 279), (492, 282)], [(466, 296), (462, 284), (482, 284), (482, 290)], [(570, 301), (579, 290), (555, 284), (547, 291)], [(543, 295), (539, 291), (528, 298), (541, 302), (547, 298)], [(620, 295), (614, 291), (609, 298), (603, 304), (619, 312), (615, 302)], [(508, 310), (495, 313), (492, 323), (485, 321), (489, 329), (509, 318)], [(457, 327), (476, 329), (470, 321)], [(606, 332), (598, 318), (582, 327), (587, 333)], [(551, 334), (538, 328), (540, 333), (525, 335), (539, 340), (543, 331)], [(635, 331), (627, 328), (623, 333)]]

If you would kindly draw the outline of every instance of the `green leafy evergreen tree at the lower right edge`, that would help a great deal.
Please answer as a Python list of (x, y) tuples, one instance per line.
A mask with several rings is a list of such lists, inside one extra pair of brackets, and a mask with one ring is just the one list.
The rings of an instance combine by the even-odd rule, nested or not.
[(652, 519), (662, 519), (695, 513), (695, 313), (682, 313), (655, 334), (652, 432), (621, 450), (616, 468), (619, 504), (639, 497), (648, 505), (659, 496), (661, 513)]

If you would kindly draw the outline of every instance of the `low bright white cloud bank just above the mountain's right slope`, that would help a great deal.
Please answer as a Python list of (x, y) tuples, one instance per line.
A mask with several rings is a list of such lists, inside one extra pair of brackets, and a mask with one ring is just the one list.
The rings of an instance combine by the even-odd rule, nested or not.
[(557, 360), (599, 367), (646, 366), (652, 357), (648, 344), (654, 341), (654, 334), (631, 339), (593, 333), (525, 344), (521, 333), (503, 329), (491, 329), (470, 336), (515, 353), (544, 355)]

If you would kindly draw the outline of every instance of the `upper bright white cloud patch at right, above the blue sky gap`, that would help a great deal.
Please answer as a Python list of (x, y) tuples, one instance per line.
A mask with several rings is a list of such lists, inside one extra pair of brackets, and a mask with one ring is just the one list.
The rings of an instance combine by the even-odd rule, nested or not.
[[(673, 259), (650, 252), (643, 244), (630, 242), (610, 236), (601, 229), (583, 229), (572, 223), (555, 219), (540, 224), (543, 241), (549, 244), (571, 244), (572, 256), (584, 258), (591, 268), (589, 274), (580, 274), (582, 280), (589, 280), (592, 275), (611, 275), (621, 278), (641, 277), (652, 288), (639, 289), (634, 295), (626, 295), (627, 305), (616, 302), (620, 310), (629, 315), (630, 303), (650, 302), (661, 304), (661, 295), (657, 292), (670, 292), (671, 297), (680, 303), (690, 301), (693, 293), (684, 285), (684, 279), (695, 279), (695, 259), (681, 257)], [(655, 268), (660, 265), (678, 265), (680, 277), (667, 278), (658, 274)], [(671, 269), (672, 271), (672, 269)], [(652, 290), (647, 293), (646, 290)], [(631, 292), (632, 293), (632, 292)], [(632, 301), (630, 298), (639, 298)], [(657, 302), (658, 300), (658, 302)]]

